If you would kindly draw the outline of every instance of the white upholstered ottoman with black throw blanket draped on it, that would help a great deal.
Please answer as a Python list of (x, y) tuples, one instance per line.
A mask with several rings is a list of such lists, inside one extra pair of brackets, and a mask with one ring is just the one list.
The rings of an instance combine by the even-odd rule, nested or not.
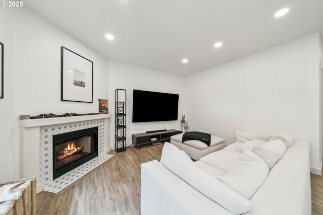
[(186, 152), (186, 154), (195, 161), (200, 160), (205, 155), (219, 151), (225, 147), (224, 139), (219, 136), (211, 135), (210, 146), (199, 140), (186, 140), (182, 142), (184, 133), (171, 136), (171, 144)]

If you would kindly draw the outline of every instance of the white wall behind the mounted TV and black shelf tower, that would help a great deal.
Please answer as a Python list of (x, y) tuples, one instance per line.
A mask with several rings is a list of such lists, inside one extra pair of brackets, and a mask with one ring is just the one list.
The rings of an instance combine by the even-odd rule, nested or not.
[[(127, 146), (132, 144), (131, 134), (142, 133), (150, 130), (179, 129), (181, 130), (181, 115), (185, 114), (186, 79), (157, 70), (134, 66), (117, 61), (109, 61), (109, 113), (115, 113), (115, 90), (127, 90)], [(178, 121), (166, 122), (132, 122), (133, 90), (146, 90), (163, 93), (179, 94)], [(155, 105), (151, 104), (151, 108)], [(114, 123), (115, 116), (111, 119)], [(115, 127), (111, 126), (110, 144), (115, 142)]]

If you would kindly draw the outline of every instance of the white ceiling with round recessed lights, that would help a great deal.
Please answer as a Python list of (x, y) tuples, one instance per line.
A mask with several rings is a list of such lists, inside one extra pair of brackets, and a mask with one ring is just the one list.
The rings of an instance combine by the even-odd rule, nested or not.
[[(183, 76), (323, 33), (322, 0), (31, 0), (24, 6), (106, 58)], [(283, 8), (290, 10), (274, 17)]]

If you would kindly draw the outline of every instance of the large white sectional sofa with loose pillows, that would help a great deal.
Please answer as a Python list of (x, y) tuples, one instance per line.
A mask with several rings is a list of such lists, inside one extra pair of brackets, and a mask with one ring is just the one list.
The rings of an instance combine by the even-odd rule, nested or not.
[(310, 215), (309, 142), (268, 138), (236, 132), (196, 162), (165, 143), (160, 162), (141, 165), (141, 214)]

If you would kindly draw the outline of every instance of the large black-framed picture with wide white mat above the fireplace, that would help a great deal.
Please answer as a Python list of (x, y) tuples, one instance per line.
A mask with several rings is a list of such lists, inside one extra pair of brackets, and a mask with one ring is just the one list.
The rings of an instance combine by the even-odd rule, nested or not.
[(93, 102), (93, 62), (62, 46), (61, 100)]

